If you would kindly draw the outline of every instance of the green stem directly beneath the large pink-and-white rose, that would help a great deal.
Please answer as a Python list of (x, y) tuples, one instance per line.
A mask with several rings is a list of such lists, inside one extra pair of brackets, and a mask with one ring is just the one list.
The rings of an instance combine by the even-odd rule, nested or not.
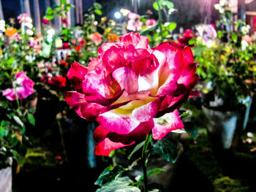
[(148, 134), (146, 139), (145, 139), (145, 143), (143, 145), (143, 150), (142, 150), (142, 155), (141, 155), (141, 159), (143, 161), (142, 163), (142, 167), (143, 167), (143, 182), (144, 182), (144, 192), (148, 191), (148, 178), (147, 178), (147, 169), (146, 169), (146, 165), (148, 163), (148, 156), (147, 156), (147, 149), (148, 149), (148, 144), (151, 141), (151, 134)]

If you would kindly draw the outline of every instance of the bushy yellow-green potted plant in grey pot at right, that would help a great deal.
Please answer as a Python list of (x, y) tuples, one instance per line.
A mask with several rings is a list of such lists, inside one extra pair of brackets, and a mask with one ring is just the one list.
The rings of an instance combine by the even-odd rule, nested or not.
[(203, 111), (209, 120), (208, 132), (212, 133), (209, 137), (214, 146), (229, 149), (238, 145), (246, 127), (250, 104), (245, 106), (243, 101), (248, 98), (252, 101), (250, 98), (255, 93), (255, 45), (248, 36), (249, 26), (227, 17), (230, 13), (227, 4), (220, 2), (215, 7), (221, 13), (219, 26), (233, 25), (238, 29), (232, 31), (228, 27), (230, 30), (217, 31), (210, 44), (199, 37), (194, 51), (198, 73), (208, 82), (202, 91), (205, 93)]

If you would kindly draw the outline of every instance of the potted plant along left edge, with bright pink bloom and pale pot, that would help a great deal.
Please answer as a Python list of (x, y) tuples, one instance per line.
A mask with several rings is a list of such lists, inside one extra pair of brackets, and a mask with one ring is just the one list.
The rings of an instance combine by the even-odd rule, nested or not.
[[(30, 45), (34, 32), (28, 15), (22, 14), (18, 20), (20, 30), (13, 27), (14, 20), (11, 26), (1, 20), (0, 28), (0, 191), (4, 192), (12, 191), (12, 166), (14, 172), (18, 172), (24, 163), (28, 142), (26, 127), (35, 125), (36, 99), (32, 98), (35, 83), (27, 76), (34, 74), (35, 52)], [(29, 70), (26, 73), (24, 69)]]

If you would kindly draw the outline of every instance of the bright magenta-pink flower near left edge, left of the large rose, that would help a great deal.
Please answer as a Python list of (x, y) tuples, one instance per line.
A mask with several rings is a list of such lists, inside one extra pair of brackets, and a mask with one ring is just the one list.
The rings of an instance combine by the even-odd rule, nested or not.
[(15, 74), (15, 81), (12, 82), (12, 88), (7, 88), (3, 91), (3, 96), (10, 101), (16, 99), (15, 91), (17, 92), (18, 99), (25, 99), (34, 93), (34, 81), (26, 76), (26, 72), (19, 72)]

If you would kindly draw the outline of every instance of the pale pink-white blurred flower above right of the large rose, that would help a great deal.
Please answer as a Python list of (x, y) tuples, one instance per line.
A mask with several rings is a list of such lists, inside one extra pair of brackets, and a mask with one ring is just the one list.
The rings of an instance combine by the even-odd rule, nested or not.
[(205, 42), (217, 37), (217, 32), (213, 24), (197, 26), (196, 30)]

